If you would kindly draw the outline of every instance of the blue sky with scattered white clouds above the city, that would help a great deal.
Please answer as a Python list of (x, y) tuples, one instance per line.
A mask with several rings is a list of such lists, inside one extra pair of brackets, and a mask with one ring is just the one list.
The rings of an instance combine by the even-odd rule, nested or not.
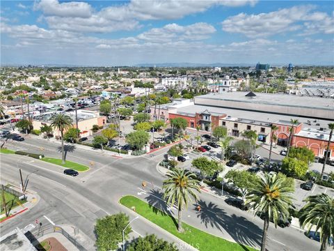
[(334, 64), (334, 1), (0, 4), (1, 65)]

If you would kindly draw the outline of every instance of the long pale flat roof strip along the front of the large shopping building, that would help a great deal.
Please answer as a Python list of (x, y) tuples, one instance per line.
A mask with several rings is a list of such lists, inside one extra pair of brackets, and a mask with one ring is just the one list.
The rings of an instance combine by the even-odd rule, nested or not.
[[(291, 119), (298, 119), (300, 123), (303, 123), (308, 128), (328, 128), (328, 121), (321, 119), (308, 119), (298, 116), (285, 116), (280, 114), (269, 114), (264, 112), (250, 112), (243, 109), (229, 109), (223, 107), (208, 107), (206, 105), (189, 105), (186, 107), (180, 107), (177, 109), (177, 114), (196, 114), (196, 112), (203, 112), (208, 110), (212, 113), (226, 114), (232, 118), (239, 118), (252, 121), (261, 121), (261, 123), (278, 123), (281, 125), (291, 125), (289, 122)], [(223, 118), (227, 119), (227, 117)], [(319, 126), (317, 126), (319, 124)], [(329, 131), (329, 130), (327, 130)]]

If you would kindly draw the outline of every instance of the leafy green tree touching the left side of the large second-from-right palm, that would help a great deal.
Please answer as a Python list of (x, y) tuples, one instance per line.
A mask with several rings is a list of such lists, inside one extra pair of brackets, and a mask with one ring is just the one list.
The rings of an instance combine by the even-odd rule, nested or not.
[(237, 185), (237, 187), (240, 188), (242, 199), (245, 198), (250, 188), (255, 188), (255, 185), (260, 182), (260, 177), (245, 170), (238, 171), (231, 169), (225, 175), (225, 178), (232, 181), (234, 185)]

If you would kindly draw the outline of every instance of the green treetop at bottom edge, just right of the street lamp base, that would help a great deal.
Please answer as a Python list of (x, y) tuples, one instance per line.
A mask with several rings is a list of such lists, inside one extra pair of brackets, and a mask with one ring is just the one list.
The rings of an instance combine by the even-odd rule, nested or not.
[(168, 243), (154, 234), (139, 237), (128, 248), (129, 251), (177, 251), (173, 243)]

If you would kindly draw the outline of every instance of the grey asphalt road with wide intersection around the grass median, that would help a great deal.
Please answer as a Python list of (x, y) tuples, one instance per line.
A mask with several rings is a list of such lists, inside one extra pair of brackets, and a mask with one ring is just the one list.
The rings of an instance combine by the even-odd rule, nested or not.
[[(25, 142), (8, 143), (9, 149), (42, 151), (47, 156), (60, 158), (59, 146), (46, 140), (29, 138)], [(164, 153), (161, 152), (156, 155)], [(5, 234), (16, 226), (24, 227), (36, 218), (47, 215), (56, 224), (69, 223), (79, 227), (94, 242), (93, 228), (97, 218), (120, 211), (125, 211), (131, 215), (130, 218), (134, 218), (134, 213), (118, 204), (122, 195), (136, 195), (166, 210), (164, 201), (159, 199), (164, 176), (157, 172), (155, 158), (116, 159), (101, 154), (100, 151), (95, 153), (75, 148), (67, 153), (67, 159), (86, 165), (93, 161), (96, 165), (90, 171), (72, 178), (65, 176), (61, 167), (39, 160), (31, 162), (32, 159), (27, 157), (1, 154), (1, 179), (18, 184), (17, 166), (13, 165), (15, 162), (22, 168), (24, 176), (38, 170), (29, 176), (28, 189), (35, 190), (41, 197), (38, 205), (31, 211), (1, 223), (1, 233)], [(148, 181), (146, 191), (141, 190), (142, 181)], [(229, 206), (223, 199), (205, 192), (200, 194), (198, 203), (202, 206), (202, 211), (198, 213), (195, 204), (190, 205), (184, 211), (185, 222), (228, 240), (259, 247), (263, 226), (260, 218), (253, 218), (251, 213)], [(176, 211), (172, 209), (171, 212)], [(135, 220), (132, 227), (141, 235), (154, 233), (168, 241), (177, 241), (141, 218)], [(304, 236), (299, 229), (275, 229), (271, 225), (268, 249), (319, 250), (319, 243)]]

